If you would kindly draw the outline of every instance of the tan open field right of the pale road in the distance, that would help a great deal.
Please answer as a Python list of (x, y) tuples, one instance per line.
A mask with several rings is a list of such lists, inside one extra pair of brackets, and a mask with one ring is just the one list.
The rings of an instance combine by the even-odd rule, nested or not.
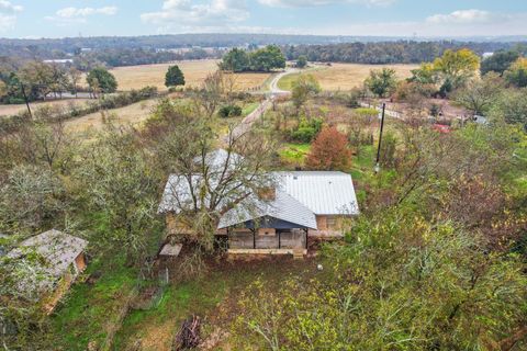
[[(417, 65), (358, 65), (358, 64), (332, 64), (332, 66), (319, 66), (309, 69), (302, 73), (313, 75), (321, 83), (324, 90), (349, 90), (362, 86), (362, 82), (372, 69), (383, 67), (393, 68), (397, 78), (403, 79), (411, 76), (411, 70), (417, 68)], [(283, 90), (291, 89), (291, 82), (299, 75), (288, 75), (280, 79), (278, 87)]]

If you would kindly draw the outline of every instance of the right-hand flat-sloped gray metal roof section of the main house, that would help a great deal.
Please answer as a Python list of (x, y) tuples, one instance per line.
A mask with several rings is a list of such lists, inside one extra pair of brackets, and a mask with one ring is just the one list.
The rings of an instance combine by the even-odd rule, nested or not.
[(338, 171), (276, 172), (279, 186), (316, 215), (357, 215), (351, 176)]

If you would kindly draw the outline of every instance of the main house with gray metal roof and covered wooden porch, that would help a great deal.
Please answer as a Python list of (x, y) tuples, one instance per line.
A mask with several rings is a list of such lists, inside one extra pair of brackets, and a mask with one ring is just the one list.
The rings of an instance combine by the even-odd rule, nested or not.
[[(215, 151), (209, 158), (211, 168), (224, 157), (222, 151)], [(267, 176), (271, 186), (237, 203), (218, 220), (215, 235), (229, 253), (305, 254), (310, 237), (341, 237), (343, 222), (359, 213), (351, 176), (347, 173), (283, 171)], [(184, 177), (171, 174), (165, 186), (158, 212), (166, 215), (169, 235), (186, 230), (178, 223), (178, 214), (190, 200), (188, 183)]]

